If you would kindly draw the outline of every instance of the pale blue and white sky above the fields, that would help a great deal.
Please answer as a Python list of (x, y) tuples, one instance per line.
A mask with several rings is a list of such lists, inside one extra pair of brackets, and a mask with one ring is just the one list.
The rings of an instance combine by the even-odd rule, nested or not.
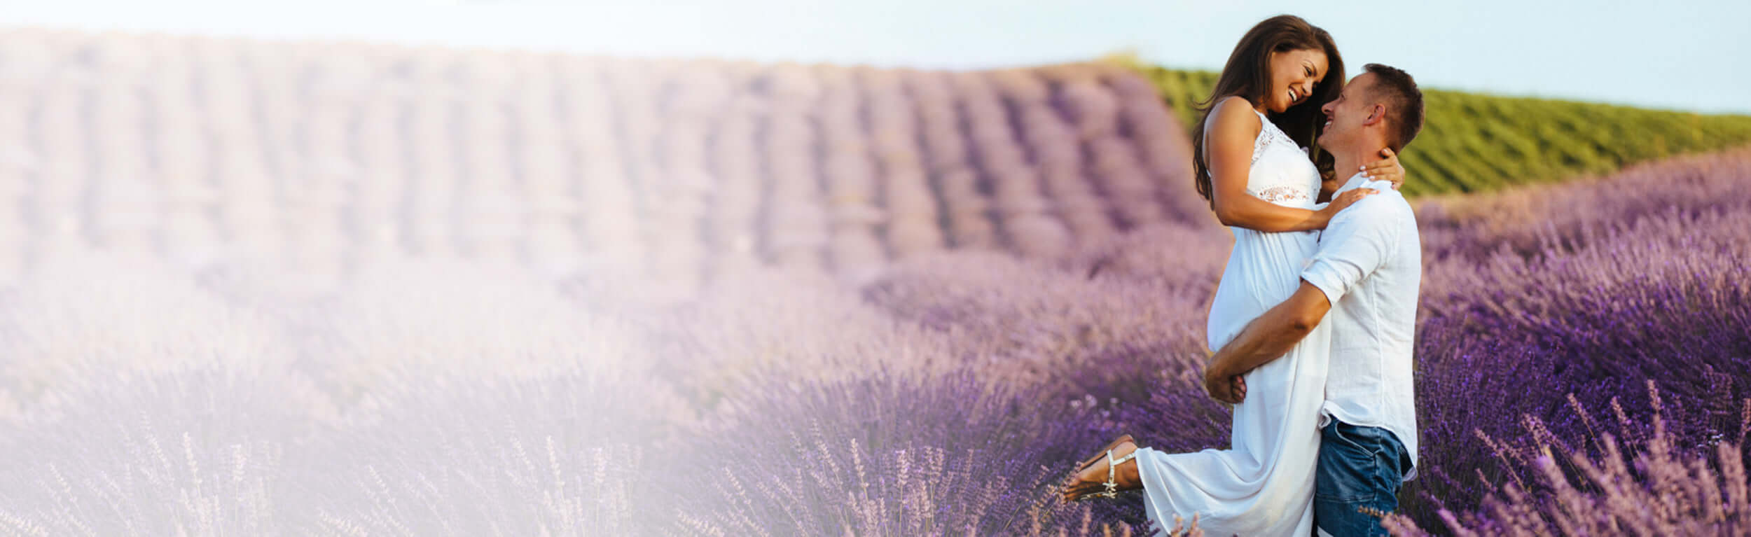
[(1254, 23), (1299, 14), (1425, 87), (1751, 114), (1751, 2), (1117, 0), (0, 0), (0, 26), (161, 30), (918, 68), (1143, 59), (1217, 70)]

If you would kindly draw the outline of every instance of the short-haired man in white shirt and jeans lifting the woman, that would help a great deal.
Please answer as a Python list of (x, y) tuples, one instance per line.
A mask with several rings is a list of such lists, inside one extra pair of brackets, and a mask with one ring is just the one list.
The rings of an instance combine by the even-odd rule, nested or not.
[[(1424, 103), (1403, 70), (1369, 63), (1326, 103), (1319, 145), (1336, 170), (1361, 170), (1382, 147), (1399, 152), (1422, 129)], [(1343, 175), (1338, 175), (1343, 177)], [(1205, 369), (1210, 397), (1240, 402), (1241, 374), (1301, 341), (1331, 313), (1331, 374), (1320, 406), (1313, 523), (1320, 535), (1387, 535), (1380, 518), (1397, 509), (1417, 474), (1411, 338), (1422, 282), (1422, 241), (1404, 196), (1357, 173), (1326, 189), (1375, 189), (1333, 217), (1301, 271), (1301, 289), (1252, 320)]]

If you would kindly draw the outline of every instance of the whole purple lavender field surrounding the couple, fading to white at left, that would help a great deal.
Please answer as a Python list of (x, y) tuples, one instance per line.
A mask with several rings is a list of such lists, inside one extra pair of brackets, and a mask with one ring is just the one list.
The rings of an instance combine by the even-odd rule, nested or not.
[[(1189, 168), (1098, 63), (11, 30), (0, 532), (1142, 534), (1052, 486), (1226, 444)], [(1397, 534), (1751, 532), (1751, 150), (1415, 205)]]

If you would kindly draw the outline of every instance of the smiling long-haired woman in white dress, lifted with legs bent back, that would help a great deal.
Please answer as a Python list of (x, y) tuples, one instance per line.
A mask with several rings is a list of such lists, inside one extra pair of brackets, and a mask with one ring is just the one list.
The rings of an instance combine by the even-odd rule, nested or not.
[[(1192, 129), (1198, 194), (1234, 233), (1234, 250), (1210, 306), (1210, 348), (1299, 285), (1303, 262), (1340, 210), (1373, 194), (1357, 189), (1319, 206), (1322, 184), (1348, 178), (1331, 170), (1313, 138), (1320, 105), (1338, 96), (1343, 58), (1331, 35), (1296, 16), (1264, 19), (1234, 45), (1205, 119)], [(1310, 154), (1301, 147), (1315, 147)], [(1375, 178), (1403, 180), (1397, 157), (1364, 166)], [(1143, 507), (1161, 527), (1198, 514), (1210, 535), (1311, 535), (1319, 408), (1324, 402), (1329, 324), (1289, 355), (1245, 374), (1247, 399), (1234, 406), (1229, 450), (1163, 453), (1121, 436), (1065, 483), (1066, 500), (1114, 497), (1143, 488)]]

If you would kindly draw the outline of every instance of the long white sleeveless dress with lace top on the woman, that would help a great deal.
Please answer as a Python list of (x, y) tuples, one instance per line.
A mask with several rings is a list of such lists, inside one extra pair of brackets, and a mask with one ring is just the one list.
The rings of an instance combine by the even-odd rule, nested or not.
[[(1254, 140), (1247, 192), (1276, 205), (1315, 208), (1319, 170), (1269, 119), (1259, 114), (1259, 121), (1264, 128)], [(1317, 231), (1229, 229), (1234, 252), (1210, 306), (1210, 350), (1222, 348), (1248, 322), (1289, 299), (1319, 245)], [(1196, 513), (1206, 535), (1311, 535), (1329, 343), (1329, 324), (1320, 322), (1287, 355), (1245, 376), (1247, 399), (1234, 406), (1229, 450), (1136, 450), (1149, 518), (1171, 528), (1175, 514), (1191, 521)]]

